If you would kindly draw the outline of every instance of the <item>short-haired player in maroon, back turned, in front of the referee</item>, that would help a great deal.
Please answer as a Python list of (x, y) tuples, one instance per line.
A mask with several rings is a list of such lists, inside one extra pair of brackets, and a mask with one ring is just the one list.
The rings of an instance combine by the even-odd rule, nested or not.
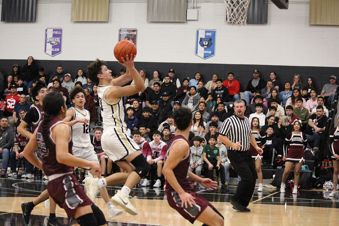
[(218, 185), (217, 182), (198, 177), (188, 170), (191, 158), (188, 136), (192, 125), (192, 112), (180, 107), (174, 110), (173, 118), (174, 125), (177, 126), (176, 136), (168, 143), (167, 158), (162, 170), (168, 182), (165, 190), (167, 202), (192, 224), (198, 220), (203, 225), (224, 225), (221, 213), (190, 186), (189, 180), (196, 181), (210, 190), (216, 189)]

